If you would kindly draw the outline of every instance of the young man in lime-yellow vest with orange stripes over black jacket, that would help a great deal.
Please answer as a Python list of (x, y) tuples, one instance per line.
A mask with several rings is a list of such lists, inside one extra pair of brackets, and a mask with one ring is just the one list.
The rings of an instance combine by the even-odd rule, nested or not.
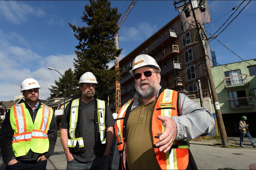
[(46, 169), (54, 151), (57, 124), (52, 108), (38, 99), (37, 80), (21, 83), (25, 102), (6, 113), (0, 133), (0, 148), (6, 169)]

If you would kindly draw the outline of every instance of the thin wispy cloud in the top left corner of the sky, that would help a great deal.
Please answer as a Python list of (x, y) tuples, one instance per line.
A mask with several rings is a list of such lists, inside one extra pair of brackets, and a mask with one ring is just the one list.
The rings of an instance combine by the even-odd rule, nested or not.
[(46, 13), (40, 8), (33, 8), (22, 1), (0, 1), (0, 16), (10, 23), (20, 24), (30, 16), (42, 17)]

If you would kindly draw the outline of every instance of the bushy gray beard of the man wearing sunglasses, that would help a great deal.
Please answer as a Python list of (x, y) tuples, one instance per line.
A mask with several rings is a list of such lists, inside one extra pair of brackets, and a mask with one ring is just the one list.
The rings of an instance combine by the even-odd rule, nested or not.
[[(145, 81), (144, 81), (145, 82)], [(151, 99), (152, 97), (154, 97), (155, 95), (157, 95), (157, 91), (158, 91), (158, 87), (156, 87), (155, 83), (153, 82), (152, 84), (149, 84), (149, 82), (147, 82), (149, 84), (149, 89), (147, 89), (147, 87), (140, 87), (140, 85), (142, 83), (144, 83), (143, 81), (140, 82), (139, 84), (135, 85), (135, 89), (137, 91), (137, 93), (139, 94), (139, 96), (142, 99)], [(155, 86), (155, 87), (154, 87)]]

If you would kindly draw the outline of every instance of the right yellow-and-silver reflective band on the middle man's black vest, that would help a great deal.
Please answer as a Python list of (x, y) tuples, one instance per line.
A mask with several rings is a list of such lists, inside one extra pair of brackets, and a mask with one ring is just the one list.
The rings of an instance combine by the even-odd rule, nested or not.
[(99, 121), (99, 133), (101, 136), (101, 143), (106, 143), (105, 137), (105, 101), (97, 99), (97, 113), (98, 113), (98, 121)]

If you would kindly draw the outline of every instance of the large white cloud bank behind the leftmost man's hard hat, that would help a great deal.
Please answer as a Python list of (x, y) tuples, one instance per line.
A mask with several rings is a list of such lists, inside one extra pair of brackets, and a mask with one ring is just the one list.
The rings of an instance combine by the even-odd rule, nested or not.
[(59, 80), (62, 75), (71, 68), (74, 70), (73, 62), (75, 54), (50, 55), (42, 57), (37, 52), (14, 46), (8, 41), (8, 36), (0, 31), (0, 91), (1, 101), (14, 100), (20, 93), (20, 84), (26, 78), (34, 78), (42, 87), (39, 90), (39, 99), (45, 100), (50, 96), (50, 85), (55, 85), (54, 80)]

